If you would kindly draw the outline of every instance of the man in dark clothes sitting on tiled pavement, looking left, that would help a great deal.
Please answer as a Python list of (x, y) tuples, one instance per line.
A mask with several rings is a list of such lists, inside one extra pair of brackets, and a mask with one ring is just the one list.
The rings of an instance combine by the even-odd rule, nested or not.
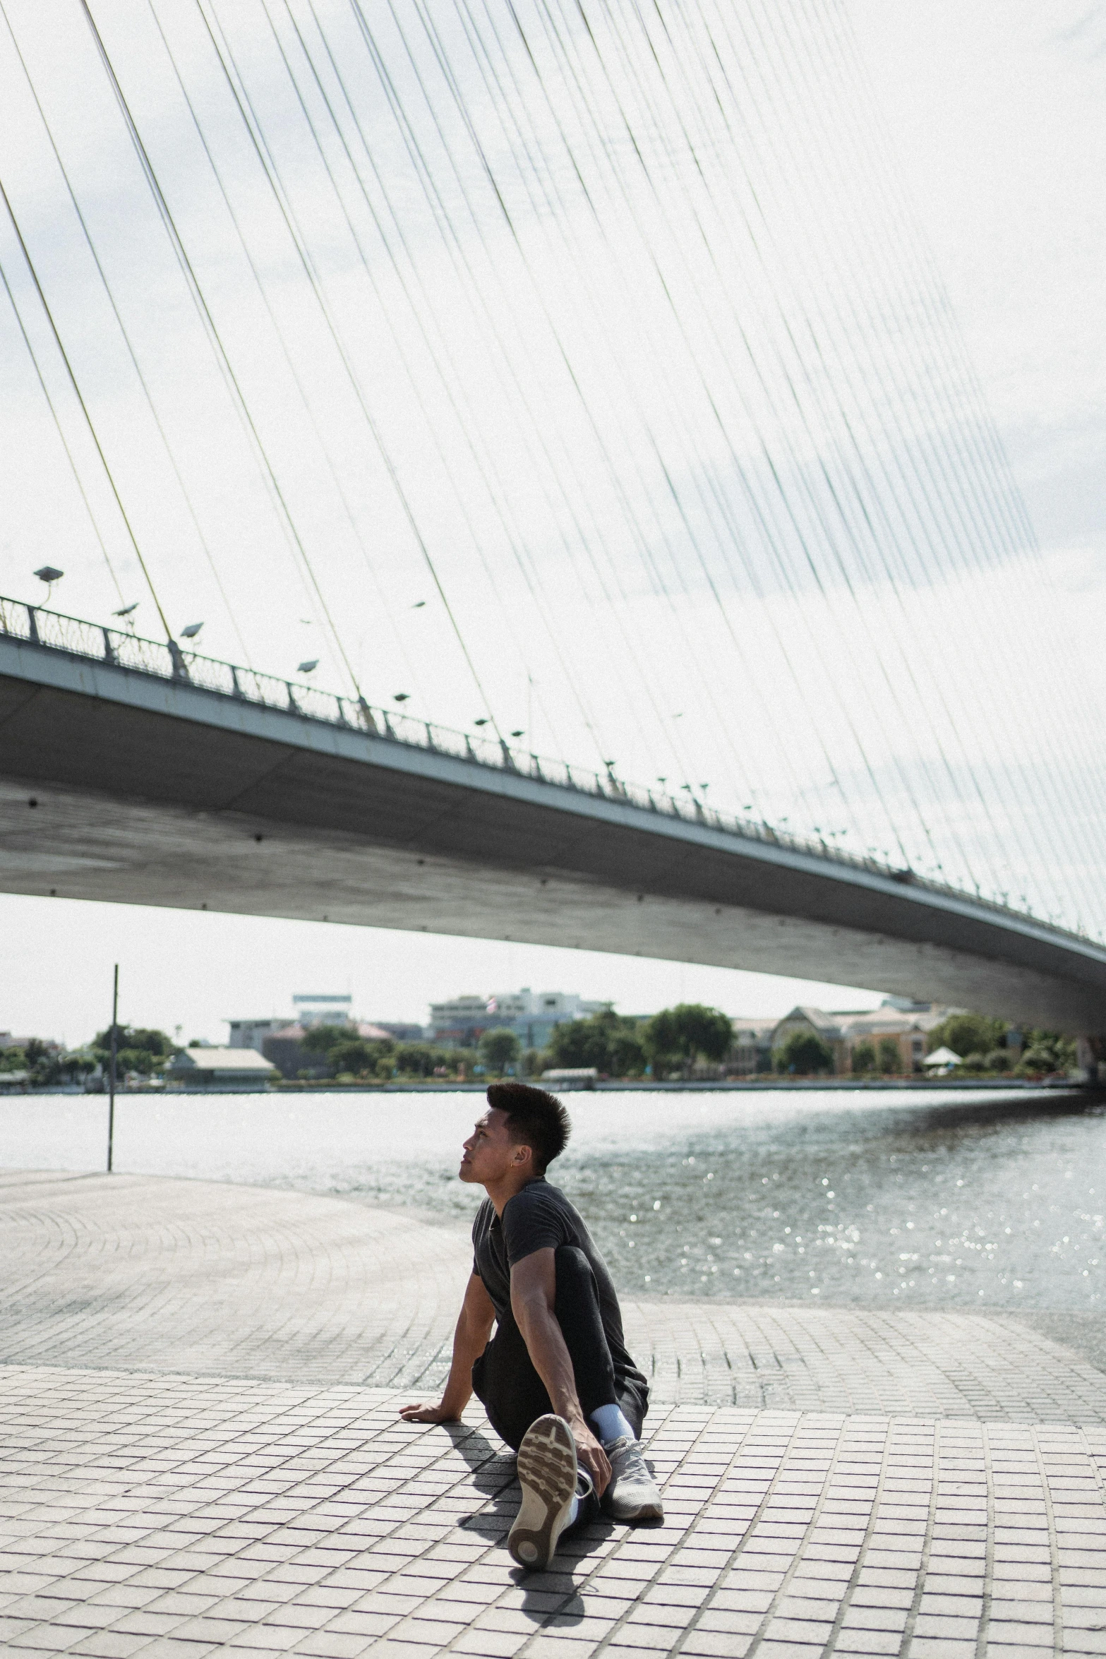
[(522, 1505), (507, 1548), (524, 1568), (547, 1566), (557, 1540), (600, 1508), (617, 1521), (663, 1518), (638, 1443), (648, 1384), (627, 1352), (610, 1272), (546, 1180), (569, 1131), (544, 1088), (489, 1087), (459, 1170), (488, 1198), (473, 1223), (449, 1377), (438, 1405), (400, 1410), (410, 1423), (456, 1423), (476, 1392), (519, 1453)]

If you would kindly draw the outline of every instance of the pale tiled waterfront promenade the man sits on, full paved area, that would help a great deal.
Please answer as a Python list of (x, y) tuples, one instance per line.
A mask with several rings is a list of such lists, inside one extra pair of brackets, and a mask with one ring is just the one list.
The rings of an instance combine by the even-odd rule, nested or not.
[(20, 1171), (0, 1251), (5, 1652), (1106, 1652), (1106, 1372), (1074, 1322), (628, 1302), (665, 1525), (524, 1576), (479, 1412), (396, 1420), (444, 1374), (463, 1229)]

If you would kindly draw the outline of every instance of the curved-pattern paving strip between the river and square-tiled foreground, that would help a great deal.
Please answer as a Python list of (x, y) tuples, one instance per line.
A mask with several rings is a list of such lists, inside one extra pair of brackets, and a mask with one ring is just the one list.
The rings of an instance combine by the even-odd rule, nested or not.
[[(431, 1390), (464, 1229), (337, 1198), (131, 1175), (0, 1175), (0, 1357)], [(1106, 1374), (1008, 1314), (623, 1302), (680, 1405), (1106, 1422)]]

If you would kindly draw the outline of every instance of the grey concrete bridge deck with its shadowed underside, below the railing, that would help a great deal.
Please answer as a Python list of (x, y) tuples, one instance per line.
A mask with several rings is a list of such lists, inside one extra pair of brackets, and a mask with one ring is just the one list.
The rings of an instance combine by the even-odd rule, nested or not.
[(1106, 1030), (1106, 952), (1038, 924), (454, 757), (0, 647), (7, 893), (705, 962)]

